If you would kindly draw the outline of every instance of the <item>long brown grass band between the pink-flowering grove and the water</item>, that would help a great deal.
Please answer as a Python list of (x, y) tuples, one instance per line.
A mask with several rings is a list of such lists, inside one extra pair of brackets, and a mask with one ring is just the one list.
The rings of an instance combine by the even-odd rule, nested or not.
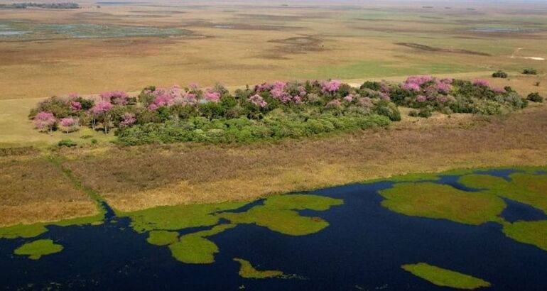
[(547, 164), (547, 110), (407, 118), (389, 130), (246, 146), (141, 146), (65, 163), (113, 207), (223, 202), (454, 168)]

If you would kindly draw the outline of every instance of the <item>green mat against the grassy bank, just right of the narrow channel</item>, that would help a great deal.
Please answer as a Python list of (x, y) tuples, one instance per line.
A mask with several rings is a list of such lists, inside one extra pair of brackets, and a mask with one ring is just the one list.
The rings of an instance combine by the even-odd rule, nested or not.
[(219, 204), (190, 204), (162, 206), (136, 212), (125, 212), (120, 216), (131, 219), (131, 227), (139, 233), (153, 230), (178, 230), (218, 224), (216, 212), (238, 209), (249, 202), (227, 202)]

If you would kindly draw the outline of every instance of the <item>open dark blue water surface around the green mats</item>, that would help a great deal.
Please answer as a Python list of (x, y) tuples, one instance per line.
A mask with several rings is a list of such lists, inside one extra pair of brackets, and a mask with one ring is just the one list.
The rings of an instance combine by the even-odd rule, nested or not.
[[(500, 177), (509, 173), (488, 172)], [(457, 184), (457, 176), (438, 182), (468, 190)], [(112, 212), (101, 226), (50, 226), (39, 238), (51, 238), (64, 250), (40, 260), (12, 254), (28, 239), (0, 240), (0, 285), (6, 290), (445, 289), (400, 268), (426, 262), (487, 280), (492, 283), (490, 290), (547, 290), (547, 252), (506, 238), (499, 224), (467, 226), (391, 212), (381, 207), (377, 193), (391, 185), (377, 182), (310, 192), (345, 201), (326, 212), (300, 212), (323, 217), (330, 222), (326, 229), (309, 236), (287, 236), (239, 225), (210, 237), (220, 253), (209, 265), (178, 262), (167, 247), (148, 244), (147, 234), (136, 234), (128, 219), (113, 217)], [(507, 220), (546, 218), (537, 209), (507, 202), (502, 214)], [(300, 279), (243, 279), (237, 273), (239, 263), (232, 258)]]

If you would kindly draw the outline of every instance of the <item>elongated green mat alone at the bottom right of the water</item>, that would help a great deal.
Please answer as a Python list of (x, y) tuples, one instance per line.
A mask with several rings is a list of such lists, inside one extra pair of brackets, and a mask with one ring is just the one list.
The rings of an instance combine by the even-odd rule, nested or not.
[(480, 287), (490, 286), (489, 282), (482, 279), (455, 272), (453, 270), (439, 268), (434, 265), (428, 265), (427, 263), (402, 265), (401, 268), (419, 278), (442, 287), (473, 290)]

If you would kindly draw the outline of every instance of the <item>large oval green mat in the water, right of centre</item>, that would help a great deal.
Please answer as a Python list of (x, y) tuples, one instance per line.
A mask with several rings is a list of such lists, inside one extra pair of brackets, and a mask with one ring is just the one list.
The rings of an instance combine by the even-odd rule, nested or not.
[(430, 182), (401, 183), (381, 190), (381, 205), (408, 216), (449, 219), (462, 224), (500, 221), (503, 199), (487, 193), (467, 192)]

